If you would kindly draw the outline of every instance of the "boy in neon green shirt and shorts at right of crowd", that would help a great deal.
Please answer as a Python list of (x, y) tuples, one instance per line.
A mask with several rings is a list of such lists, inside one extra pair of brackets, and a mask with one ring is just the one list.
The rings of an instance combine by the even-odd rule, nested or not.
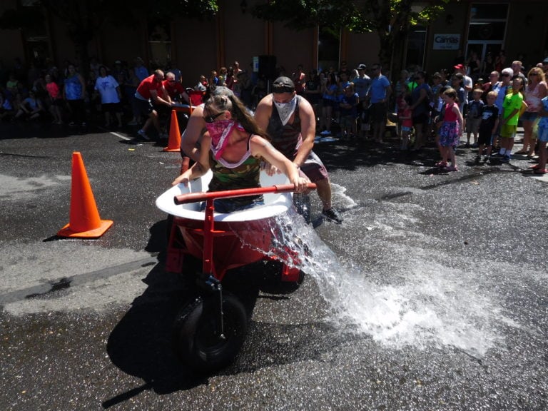
[(514, 147), (514, 137), (517, 131), (517, 120), (519, 111), (523, 106), (523, 95), (520, 91), (523, 88), (523, 79), (516, 77), (512, 80), (512, 93), (504, 97), (502, 103), (502, 120), (500, 122), (500, 151), (498, 156), (502, 157), (503, 163), (508, 163), (512, 158), (512, 148)]

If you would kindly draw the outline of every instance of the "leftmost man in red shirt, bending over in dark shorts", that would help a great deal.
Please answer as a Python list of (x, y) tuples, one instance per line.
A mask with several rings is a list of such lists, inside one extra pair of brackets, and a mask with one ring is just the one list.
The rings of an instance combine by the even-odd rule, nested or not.
[(166, 88), (163, 86), (163, 71), (156, 70), (152, 76), (148, 76), (141, 81), (135, 92), (134, 101), (137, 111), (143, 116), (148, 116), (143, 128), (137, 132), (138, 135), (145, 140), (150, 140), (146, 135), (146, 129), (152, 123), (156, 131), (158, 131), (158, 136), (166, 138), (161, 133), (160, 124), (158, 123), (158, 109), (163, 106), (171, 108), (173, 103), (168, 96)]

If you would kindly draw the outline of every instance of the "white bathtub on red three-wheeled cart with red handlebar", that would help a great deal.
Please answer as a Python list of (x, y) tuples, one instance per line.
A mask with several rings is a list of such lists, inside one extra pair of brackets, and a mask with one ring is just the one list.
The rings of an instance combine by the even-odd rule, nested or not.
[[(191, 295), (173, 323), (173, 347), (196, 372), (230, 364), (245, 340), (255, 300), (241, 283), (230, 282), (228, 272), (274, 268), (287, 290), (298, 288), (304, 275), (294, 250), (273, 250), (275, 219), (293, 207), (294, 187), (285, 175), (261, 172), (260, 188), (206, 193), (211, 176), (209, 171), (188, 186), (173, 186), (156, 200), (168, 213), (166, 271), (183, 275)], [(256, 194), (263, 194), (264, 205), (215, 213), (215, 198)]]

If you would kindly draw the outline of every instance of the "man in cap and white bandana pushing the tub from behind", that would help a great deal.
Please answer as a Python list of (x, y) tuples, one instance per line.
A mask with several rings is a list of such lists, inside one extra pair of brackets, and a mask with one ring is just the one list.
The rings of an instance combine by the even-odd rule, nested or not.
[(272, 138), (273, 146), (316, 183), (323, 203), (323, 215), (335, 223), (342, 218), (331, 206), (331, 185), (328, 171), (312, 151), (316, 118), (310, 103), (295, 93), (295, 84), (285, 76), (275, 79), (272, 93), (265, 96), (255, 110), (255, 120)]

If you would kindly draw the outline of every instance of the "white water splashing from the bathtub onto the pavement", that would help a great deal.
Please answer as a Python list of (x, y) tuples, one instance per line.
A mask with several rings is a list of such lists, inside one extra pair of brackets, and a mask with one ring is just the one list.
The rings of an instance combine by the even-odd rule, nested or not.
[(450, 345), (475, 356), (501, 340), (494, 325), (502, 317), (499, 309), (467, 283), (470, 274), (444, 265), (447, 255), (402, 250), (405, 245), (387, 241), (382, 247), (397, 259), (390, 273), (364, 273), (352, 261), (341, 261), (293, 211), (269, 228), (273, 248), (263, 253), (293, 265), (288, 250), (296, 251), (300, 268), (315, 279), (330, 307), (329, 320), (345, 331), (392, 347)]

